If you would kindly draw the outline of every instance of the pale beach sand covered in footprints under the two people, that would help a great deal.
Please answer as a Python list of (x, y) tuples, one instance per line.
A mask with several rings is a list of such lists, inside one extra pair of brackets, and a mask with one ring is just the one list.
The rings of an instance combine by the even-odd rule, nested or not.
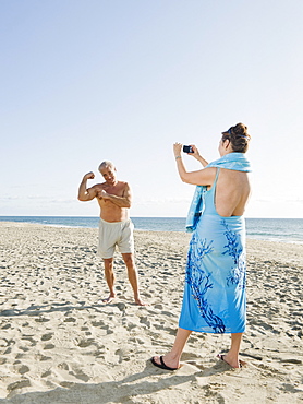
[(300, 403), (303, 245), (247, 240), (242, 369), (216, 358), (230, 335), (193, 333), (174, 372), (154, 367), (178, 326), (183, 233), (135, 231), (142, 297), (116, 254), (110, 305), (97, 229), (0, 224), (1, 403)]

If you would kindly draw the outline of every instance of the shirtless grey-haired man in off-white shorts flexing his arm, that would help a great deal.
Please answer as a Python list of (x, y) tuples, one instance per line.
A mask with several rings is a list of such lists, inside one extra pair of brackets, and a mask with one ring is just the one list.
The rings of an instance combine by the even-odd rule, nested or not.
[(98, 254), (105, 264), (105, 276), (109, 287), (109, 297), (104, 302), (109, 304), (116, 297), (113, 254), (116, 246), (121, 252), (128, 268), (129, 281), (134, 292), (135, 302), (144, 306), (138, 293), (137, 272), (134, 260), (133, 223), (129, 216), (132, 203), (132, 192), (128, 182), (118, 181), (116, 167), (111, 162), (102, 162), (99, 171), (105, 182), (87, 188), (88, 179), (94, 179), (94, 173), (87, 173), (80, 185), (80, 201), (92, 201), (97, 198), (100, 206)]

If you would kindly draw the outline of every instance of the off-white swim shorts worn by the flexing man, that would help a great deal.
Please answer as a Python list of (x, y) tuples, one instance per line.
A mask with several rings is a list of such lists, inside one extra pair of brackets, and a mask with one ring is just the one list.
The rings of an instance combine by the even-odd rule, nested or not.
[(116, 246), (123, 253), (134, 252), (134, 225), (131, 219), (123, 222), (106, 222), (100, 218), (99, 222), (99, 242), (98, 256), (101, 258), (112, 258)]

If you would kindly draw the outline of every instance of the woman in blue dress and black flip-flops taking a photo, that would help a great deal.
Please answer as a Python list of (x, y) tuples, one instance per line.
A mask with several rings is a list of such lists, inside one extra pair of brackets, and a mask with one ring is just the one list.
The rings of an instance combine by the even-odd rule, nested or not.
[(239, 350), (245, 331), (245, 222), (243, 213), (251, 187), (247, 171), (250, 135), (243, 123), (222, 132), (220, 158), (208, 164), (193, 145), (195, 157), (205, 167), (187, 173), (181, 156), (173, 152), (182, 181), (196, 185), (186, 227), (190, 242), (183, 305), (172, 349), (154, 356), (152, 363), (167, 370), (180, 368), (180, 357), (192, 331), (231, 333), (231, 347), (218, 357), (232, 368), (242, 366)]

